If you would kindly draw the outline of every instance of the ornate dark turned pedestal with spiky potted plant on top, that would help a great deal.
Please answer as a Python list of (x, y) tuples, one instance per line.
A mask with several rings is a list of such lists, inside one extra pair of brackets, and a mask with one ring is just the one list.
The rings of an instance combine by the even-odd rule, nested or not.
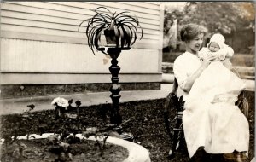
[[(109, 71), (112, 74), (112, 87), (111, 99), (113, 106), (111, 109), (110, 123), (115, 125), (114, 130), (117, 130), (121, 134), (122, 117), (119, 113), (119, 92), (121, 90), (119, 86), (119, 71), (117, 58), (119, 57), (122, 50), (129, 50), (131, 45), (136, 42), (138, 31), (137, 28), (141, 29), (140, 39), (143, 38), (143, 29), (139, 25), (137, 17), (129, 15), (127, 11), (121, 13), (112, 13), (105, 7), (99, 7), (95, 9), (96, 14), (91, 18), (84, 20), (79, 25), (79, 29), (82, 24), (87, 21), (86, 36), (88, 38), (88, 46), (92, 50), (94, 49), (101, 51), (104, 54), (110, 55), (112, 58), (111, 66)], [(101, 36), (105, 35), (105, 43), (100, 45)], [(129, 134), (121, 134), (124, 138), (130, 138)]]

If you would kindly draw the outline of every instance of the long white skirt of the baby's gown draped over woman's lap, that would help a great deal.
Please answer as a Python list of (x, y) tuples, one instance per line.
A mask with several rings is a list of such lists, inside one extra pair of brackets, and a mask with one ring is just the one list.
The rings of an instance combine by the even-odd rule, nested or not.
[[(244, 82), (220, 61), (212, 62), (195, 80), (187, 101), (204, 100), (216, 102), (224, 95), (237, 97), (245, 89)], [(219, 99), (222, 100), (221, 98)]]

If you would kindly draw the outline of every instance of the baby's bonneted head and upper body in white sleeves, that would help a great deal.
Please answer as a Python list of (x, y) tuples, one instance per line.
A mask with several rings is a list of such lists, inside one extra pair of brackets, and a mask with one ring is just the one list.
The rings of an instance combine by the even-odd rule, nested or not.
[(224, 42), (225, 38), (223, 35), (218, 33), (213, 34), (207, 47), (203, 47), (199, 51), (199, 58), (202, 59), (203, 55), (207, 55), (208, 53), (217, 55), (217, 61), (222, 61), (225, 67), (231, 69), (232, 64), (230, 58), (234, 55), (234, 50)]

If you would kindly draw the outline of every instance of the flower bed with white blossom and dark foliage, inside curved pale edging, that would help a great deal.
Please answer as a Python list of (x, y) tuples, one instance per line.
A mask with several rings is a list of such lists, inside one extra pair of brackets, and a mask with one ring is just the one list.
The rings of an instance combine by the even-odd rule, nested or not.
[[(32, 113), (35, 106), (31, 104), (24, 113), (4, 116), (1, 161), (122, 162), (127, 159), (126, 148), (107, 143), (110, 129), (104, 125), (101, 128), (105, 130), (89, 127), (79, 113), (81, 102), (76, 101), (76, 107), (72, 103), (73, 100), (58, 97), (51, 103), (54, 111)], [(90, 136), (95, 136), (95, 142), (87, 139)]]

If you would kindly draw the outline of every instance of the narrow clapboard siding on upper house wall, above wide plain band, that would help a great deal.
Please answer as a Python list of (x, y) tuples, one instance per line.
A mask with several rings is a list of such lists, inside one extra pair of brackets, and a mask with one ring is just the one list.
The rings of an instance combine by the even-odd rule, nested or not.
[[(151, 9), (154, 12), (149, 12), (150, 9), (136, 6), (137, 3), (132, 3), (127, 11), (136, 14), (143, 27), (143, 40), (159, 40), (160, 39), (160, 11)], [(142, 3), (140, 3), (142, 4)], [(99, 6), (108, 6), (108, 9), (114, 9), (117, 12), (122, 12), (129, 7), (129, 3), (84, 3), (84, 2), (5, 2), (2, 4), (2, 19), (1, 24), (3, 30), (15, 32), (29, 32), (41, 34), (53, 34), (56, 36), (66, 36), (74, 38), (82, 38), (78, 33), (78, 26), (82, 20), (90, 18), (94, 14), (92, 11)], [(123, 6), (117, 9), (118, 6)], [(150, 6), (150, 5), (148, 5)], [(87, 9), (86, 9), (87, 8)], [(133, 11), (134, 9), (135, 11)], [(137, 11), (136, 11), (137, 10)], [(155, 14), (152, 14), (155, 13)], [(86, 23), (81, 27), (80, 32), (85, 31)], [(26, 29), (29, 29), (27, 30)], [(45, 33), (45, 29), (49, 33)], [(139, 31), (140, 32), (140, 31)], [(143, 42), (142, 42), (143, 43)]]

